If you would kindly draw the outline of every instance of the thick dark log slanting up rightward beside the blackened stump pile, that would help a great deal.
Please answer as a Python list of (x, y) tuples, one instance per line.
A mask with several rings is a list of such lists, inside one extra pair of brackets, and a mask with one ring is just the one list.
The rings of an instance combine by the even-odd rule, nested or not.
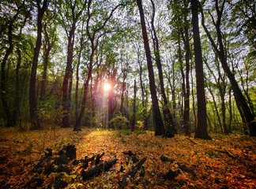
[(116, 159), (111, 159), (109, 161), (104, 161), (103, 163), (100, 163), (98, 165), (95, 165), (92, 168), (87, 169), (86, 171), (81, 172), (81, 176), (83, 177), (83, 180), (90, 180), (92, 176), (99, 174), (102, 171), (107, 171), (110, 169), (116, 162)]

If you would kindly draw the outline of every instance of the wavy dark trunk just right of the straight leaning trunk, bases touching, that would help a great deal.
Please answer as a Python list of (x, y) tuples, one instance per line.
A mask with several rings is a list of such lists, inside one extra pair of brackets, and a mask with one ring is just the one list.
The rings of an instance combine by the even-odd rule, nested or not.
[(151, 0), (152, 3), (152, 20), (151, 20), (151, 26), (152, 26), (152, 32), (153, 32), (153, 45), (154, 45), (154, 51), (155, 51), (155, 56), (156, 56), (156, 66), (158, 69), (158, 76), (159, 76), (159, 82), (160, 82), (160, 91), (162, 98), (164, 100), (164, 125), (165, 125), (165, 133), (164, 135), (168, 137), (173, 137), (175, 136), (176, 130), (175, 130), (175, 124), (174, 121), (172, 120), (171, 117), (171, 112), (168, 106), (168, 99), (165, 95), (165, 90), (164, 90), (164, 76), (163, 76), (163, 69), (162, 69), (162, 64), (160, 60), (160, 49), (159, 49), (159, 42), (158, 38), (156, 35), (156, 29), (154, 26), (154, 17), (155, 17), (155, 4)]

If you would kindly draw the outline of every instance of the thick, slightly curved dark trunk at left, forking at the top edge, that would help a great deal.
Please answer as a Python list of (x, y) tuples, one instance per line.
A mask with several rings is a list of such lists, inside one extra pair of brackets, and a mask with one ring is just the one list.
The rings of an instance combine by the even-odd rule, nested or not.
[(36, 37), (36, 46), (34, 48), (34, 56), (32, 59), (32, 69), (30, 74), (30, 84), (29, 84), (29, 109), (30, 109), (30, 120), (32, 123), (32, 129), (39, 129), (40, 124), (36, 120), (36, 71), (38, 65), (38, 57), (40, 54), (40, 48), (42, 45), (42, 31), (43, 31), (43, 14), (47, 9), (47, 0), (43, 0), (43, 6), (40, 7), (40, 2), (37, 2), (37, 37)]

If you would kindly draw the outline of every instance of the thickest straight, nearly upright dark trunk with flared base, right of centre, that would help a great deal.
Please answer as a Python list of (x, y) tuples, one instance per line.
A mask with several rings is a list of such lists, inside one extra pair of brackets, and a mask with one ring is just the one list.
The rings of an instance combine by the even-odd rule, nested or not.
[(204, 70), (201, 56), (201, 42), (198, 27), (198, 1), (191, 0), (192, 25), (194, 37), (194, 62), (197, 81), (197, 99), (198, 99), (198, 125), (194, 138), (211, 139), (207, 132), (206, 103), (205, 103), (205, 83)]

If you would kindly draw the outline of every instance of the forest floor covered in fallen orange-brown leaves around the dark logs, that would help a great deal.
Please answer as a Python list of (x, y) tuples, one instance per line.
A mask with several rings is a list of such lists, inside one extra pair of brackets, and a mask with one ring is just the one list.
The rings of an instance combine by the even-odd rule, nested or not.
[[(212, 141), (184, 135), (165, 139), (153, 132), (138, 135), (126, 130), (82, 128), (81, 132), (72, 132), (72, 128), (58, 128), (20, 132), (0, 128), (0, 188), (36, 188), (38, 185), (32, 182), (35, 176), (43, 180), (38, 188), (51, 188), (58, 174), (64, 175), (66, 188), (122, 188), (119, 182), (134, 165), (123, 153), (129, 150), (138, 159), (147, 160), (143, 164), (145, 176), (137, 172), (134, 179), (127, 179), (126, 188), (256, 188), (256, 139), (246, 135), (211, 136)], [(81, 179), (79, 166), (70, 174), (53, 172), (45, 176), (32, 172), (43, 151), (51, 148), (56, 152), (69, 143), (76, 146), (77, 159), (104, 152), (104, 161), (116, 158), (117, 162), (109, 171), (87, 181)], [(175, 162), (163, 162), (161, 155)], [(180, 170), (179, 165), (194, 170), (195, 176)], [(179, 174), (168, 176), (169, 170)]]

